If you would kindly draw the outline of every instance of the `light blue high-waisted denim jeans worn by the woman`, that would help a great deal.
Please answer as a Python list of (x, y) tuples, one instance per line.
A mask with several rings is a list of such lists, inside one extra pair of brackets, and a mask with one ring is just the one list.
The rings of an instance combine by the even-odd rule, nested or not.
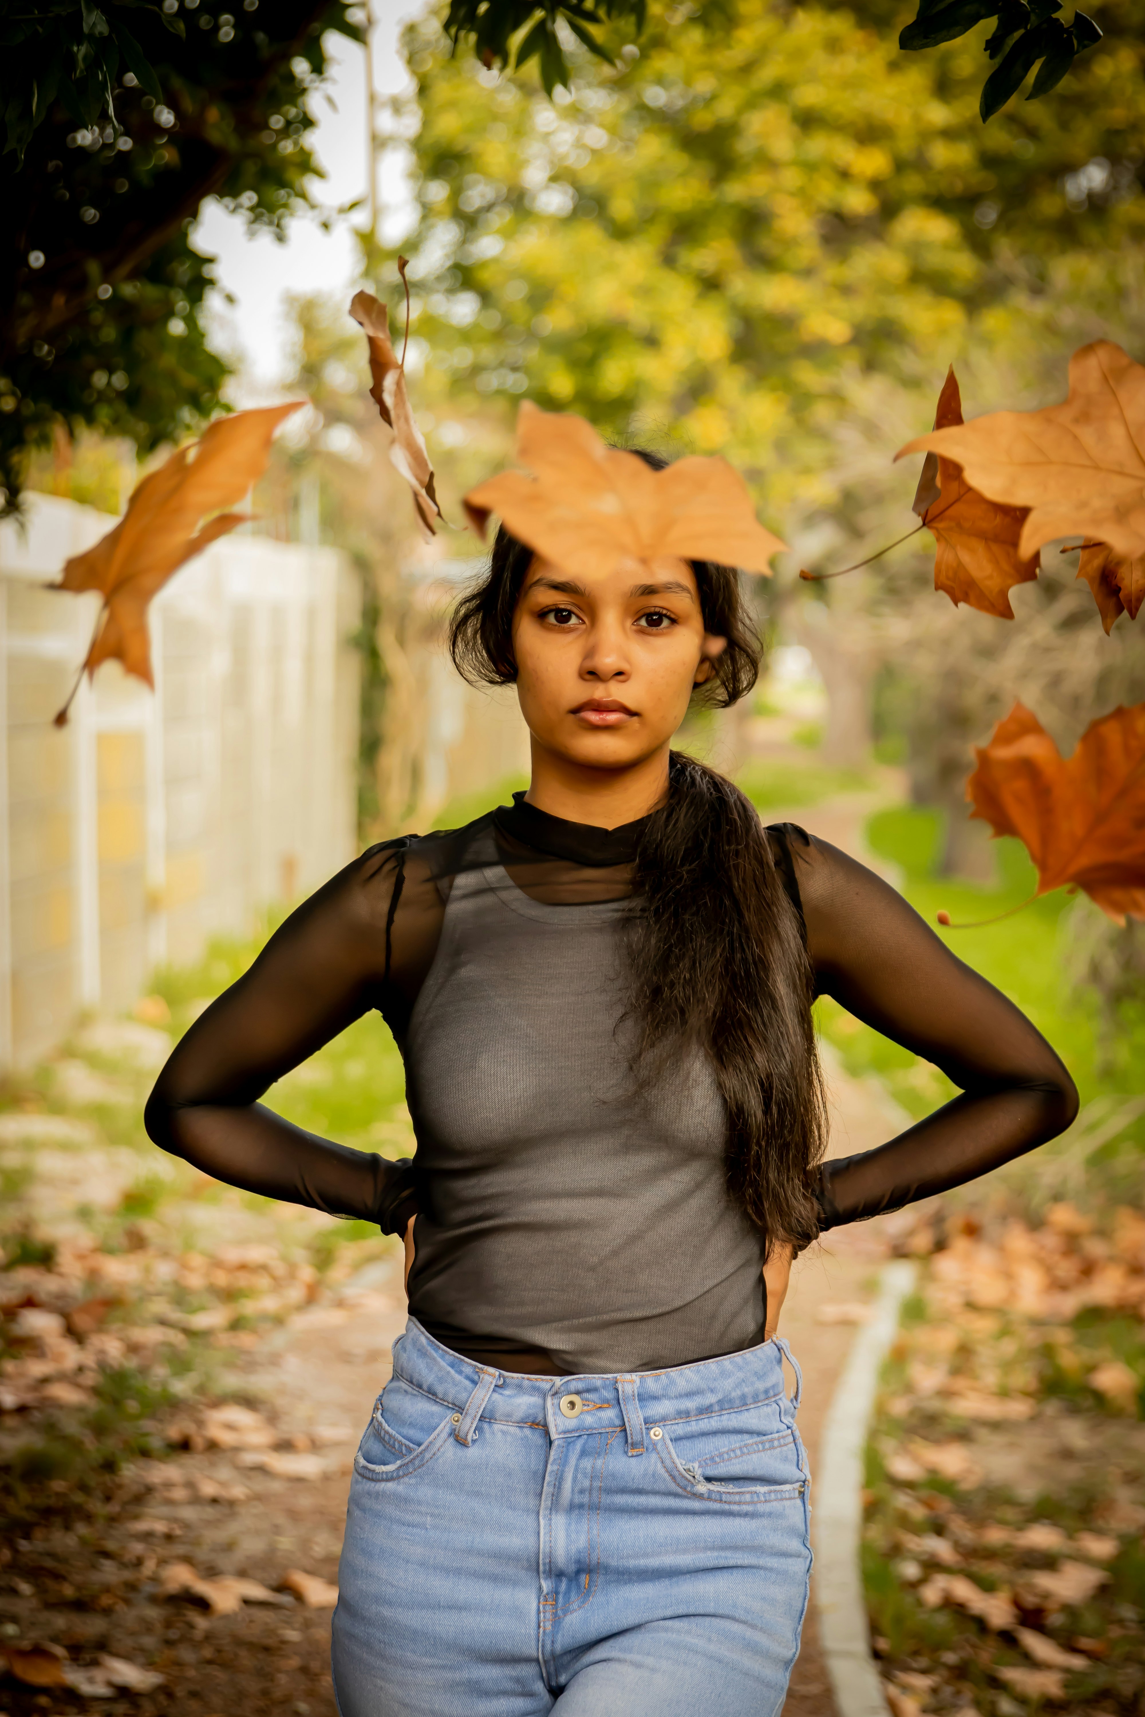
[(522, 1377), (410, 1319), (354, 1463), (342, 1717), (774, 1717), (810, 1574), (781, 1353)]

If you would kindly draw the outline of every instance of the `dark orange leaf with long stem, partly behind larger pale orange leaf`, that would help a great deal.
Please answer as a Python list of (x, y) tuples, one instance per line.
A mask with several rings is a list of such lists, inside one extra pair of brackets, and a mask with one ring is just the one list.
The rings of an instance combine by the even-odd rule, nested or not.
[[(961, 424), (961, 395), (954, 369), (948, 369), (934, 428)], [(951, 603), (966, 603), (984, 615), (1013, 620), (1009, 591), (1037, 579), (1039, 556), (1023, 558), (1018, 537), (1027, 520), (1025, 507), (1001, 507), (973, 489), (954, 460), (927, 453), (913, 510), (934, 536), (934, 589)]]

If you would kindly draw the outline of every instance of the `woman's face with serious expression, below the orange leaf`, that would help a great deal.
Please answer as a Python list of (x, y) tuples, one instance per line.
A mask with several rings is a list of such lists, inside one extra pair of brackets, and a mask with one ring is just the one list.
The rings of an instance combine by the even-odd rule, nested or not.
[(723, 647), (687, 560), (572, 577), (534, 556), (513, 616), (520, 709), (548, 752), (632, 767), (668, 747)]

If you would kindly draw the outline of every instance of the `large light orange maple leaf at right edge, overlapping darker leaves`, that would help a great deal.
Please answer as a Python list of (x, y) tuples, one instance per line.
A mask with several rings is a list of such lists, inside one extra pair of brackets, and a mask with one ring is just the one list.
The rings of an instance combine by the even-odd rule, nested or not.
[(1069, 359), (1069, 398), (1037, 412), (989, 412), (900, 448), (956, 460), (991, 501), (1028, 507), (1018, 551), (1054, 537), (1145, 555), (1145, 367), (1111, 340)]

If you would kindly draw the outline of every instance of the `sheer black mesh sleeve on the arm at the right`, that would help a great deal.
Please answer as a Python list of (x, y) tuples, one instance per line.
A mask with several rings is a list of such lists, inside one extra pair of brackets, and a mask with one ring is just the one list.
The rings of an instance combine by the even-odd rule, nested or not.
[(961, 1087), (877, 1150), (826, 1162), (822, 1226), (949, 1192), (1061, 1133), (1078, 1094), (1027, 1016), (872, 871), (790, 824), (785, 834), (819, 994)]

